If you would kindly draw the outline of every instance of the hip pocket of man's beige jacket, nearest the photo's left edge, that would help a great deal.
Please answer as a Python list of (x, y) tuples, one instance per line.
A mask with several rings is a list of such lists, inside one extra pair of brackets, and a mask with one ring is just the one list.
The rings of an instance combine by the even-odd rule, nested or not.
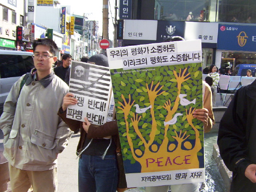
[(5, 136), (4, 138), (4, 150), (5, 152), (9, 155), (9, 157), (11, 159), (13, 159), (15, 157), (15, 153), (17, 151), (17, 143), (18, 143), (18, 137), (17, 137), (17, 134), (18, 134), (18, 131), (17, 129), (12, 129), (10, 134), (9, 134), (9, 138), (8, 136)]

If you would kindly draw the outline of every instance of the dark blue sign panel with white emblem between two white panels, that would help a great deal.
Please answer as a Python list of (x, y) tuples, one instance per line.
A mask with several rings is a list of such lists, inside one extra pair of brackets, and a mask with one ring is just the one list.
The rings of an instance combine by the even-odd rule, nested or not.
[(184, 37), (185, 22), (179, 21), (158, 21), (157, 42), (163, 42), (168, 37)]

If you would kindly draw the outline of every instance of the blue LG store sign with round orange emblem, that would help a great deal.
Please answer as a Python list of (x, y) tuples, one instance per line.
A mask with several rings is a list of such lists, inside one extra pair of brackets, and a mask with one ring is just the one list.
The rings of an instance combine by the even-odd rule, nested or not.
[(256, 51), (256, 26), (219, 24), (217, 49)]

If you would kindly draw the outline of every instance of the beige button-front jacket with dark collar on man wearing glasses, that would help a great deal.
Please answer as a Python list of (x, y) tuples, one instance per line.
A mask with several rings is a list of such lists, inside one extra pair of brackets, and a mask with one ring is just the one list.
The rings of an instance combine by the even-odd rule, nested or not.
[(22, 79), (12, 86), (0, 118), (3, 155), (18, 169), (53, 169), (56, 153), (64, 150), (72, 134), (57, 114), (68, 86), (53, 72), (43, 84), (30, 76), (18, 96)]

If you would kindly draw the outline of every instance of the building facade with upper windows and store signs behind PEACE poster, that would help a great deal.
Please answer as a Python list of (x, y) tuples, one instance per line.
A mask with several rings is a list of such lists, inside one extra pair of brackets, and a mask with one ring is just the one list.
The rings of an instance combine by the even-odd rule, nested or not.
[(255, 8), (255, 0), (120, 0), (117, 45), (178, 35), (201, 39), (203, 68), (256, 64)]

